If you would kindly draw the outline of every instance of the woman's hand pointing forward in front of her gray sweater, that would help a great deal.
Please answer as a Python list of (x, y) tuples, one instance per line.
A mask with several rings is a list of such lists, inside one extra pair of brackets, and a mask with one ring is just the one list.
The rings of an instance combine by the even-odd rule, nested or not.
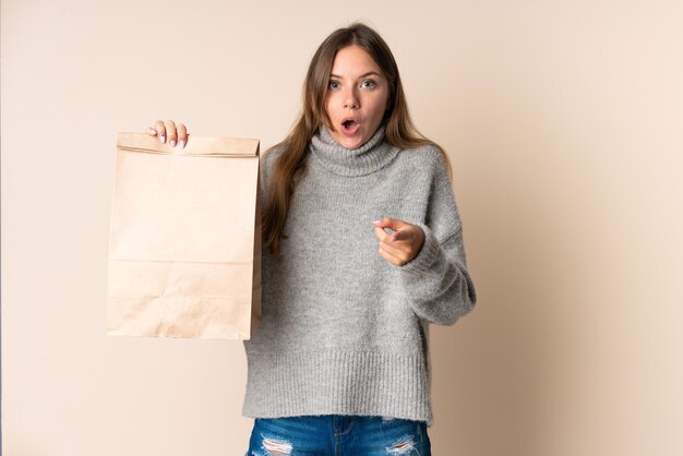
[[(374, 236), (380, 240), (380, 255), (396, 266), (415, 259), (424, 244), (424, 231), (416, 225), (398, 218), (383, 218), (373, 225)], [(394, 232), (388, 233), (385, 228)]]

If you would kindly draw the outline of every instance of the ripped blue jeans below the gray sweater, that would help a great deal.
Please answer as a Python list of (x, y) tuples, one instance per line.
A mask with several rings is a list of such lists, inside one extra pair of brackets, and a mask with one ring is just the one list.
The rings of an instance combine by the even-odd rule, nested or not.
[(247, 456), (431, 456), (420, 421), (327, 415), (254, 420)]

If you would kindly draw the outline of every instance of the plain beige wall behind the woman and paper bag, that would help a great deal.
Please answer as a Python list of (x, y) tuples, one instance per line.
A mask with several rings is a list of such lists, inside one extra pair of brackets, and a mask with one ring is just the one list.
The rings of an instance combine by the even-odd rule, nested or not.
[(357, 19), (451, 154), (478, 285), (433, 331), (434, 454), (683, 454), (680, 1), (1, 8), (4, 455), (243, 454), (241, 344), (104, 335), (115, 135), (267, 147)]

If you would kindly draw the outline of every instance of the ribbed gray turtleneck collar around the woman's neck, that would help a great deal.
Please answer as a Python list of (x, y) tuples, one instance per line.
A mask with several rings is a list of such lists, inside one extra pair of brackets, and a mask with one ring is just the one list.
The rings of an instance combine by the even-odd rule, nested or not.
[(311, 153), (325, 169), (335, 175), (370, 175), (384, 168), (398, 155), (398, 147), (393, 147), (385, 141), (384, 129), (384, 125), (380, 125), (366, 144), (349, 149), (342, 147), (327, 128), (322, 125), (311, 139)]

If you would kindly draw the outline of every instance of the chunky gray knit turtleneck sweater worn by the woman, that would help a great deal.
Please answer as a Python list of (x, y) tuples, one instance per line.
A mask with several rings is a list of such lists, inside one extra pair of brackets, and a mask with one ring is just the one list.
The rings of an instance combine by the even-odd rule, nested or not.
[[(264, 185), (277, 157), (264, 157)], [(422, 250), (403, 266), (378, 252), (372, 221), (384, 217), (424, 231)], [(244, 343), (244, 416), (431, 424), (429, 324), (453, 324), (476, 301), (441, 153), (391, 146), (383, 127), (349, 151), (321, 129), (285, 235), (279, 256), (263, 254), (263, 320)]]

